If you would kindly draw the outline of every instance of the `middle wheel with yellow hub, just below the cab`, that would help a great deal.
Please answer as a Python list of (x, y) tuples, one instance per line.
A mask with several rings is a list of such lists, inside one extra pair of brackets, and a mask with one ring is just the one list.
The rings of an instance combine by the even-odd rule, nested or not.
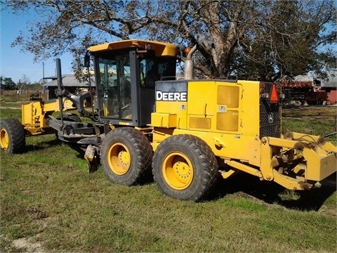
[(132, 186), (151, 169), (153, 150), (140, 131), (121, 127), (110, 131), (100, 148), (100, 162), (112, 183)]

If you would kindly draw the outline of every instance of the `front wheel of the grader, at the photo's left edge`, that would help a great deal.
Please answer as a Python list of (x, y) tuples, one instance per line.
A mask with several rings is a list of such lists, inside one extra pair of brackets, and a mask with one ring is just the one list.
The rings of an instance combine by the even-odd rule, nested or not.
[(18, 119), (0, 120), (0, 146), (8, 154), (22, 153), (25, 149), (25, 129)]

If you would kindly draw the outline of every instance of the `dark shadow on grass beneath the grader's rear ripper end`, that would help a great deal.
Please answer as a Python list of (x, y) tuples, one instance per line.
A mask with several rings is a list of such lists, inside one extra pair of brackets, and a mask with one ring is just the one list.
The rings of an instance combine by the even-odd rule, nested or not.
[[(336, 178), (336, 174), (331, 176)], [(230, 179), (220, 179), (213, 199), (216, 199), (216, 195), (221, 198), (242, 192), (268, 204), (281, 205), (287, 209), (318, 211), (335, 191), (336, 181), (334, 185), (333, 182), (323, 182), (321, 188), (298, 190), (291, 193), (277, 183), (260, 181), (256, 176), (242, 173), (232, 176)], [(282, 195), (286, 195), (286, 197), (282, 197)]]

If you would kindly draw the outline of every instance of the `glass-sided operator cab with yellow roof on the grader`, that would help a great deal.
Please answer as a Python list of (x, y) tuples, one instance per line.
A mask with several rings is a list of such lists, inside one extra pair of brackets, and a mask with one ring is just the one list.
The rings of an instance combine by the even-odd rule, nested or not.
[(154, 82), (176, 79), (177, 47), (121, 41), (91, 46), (88, 51), (95, 64), (99, 117), (114, 125), (150, 124)]

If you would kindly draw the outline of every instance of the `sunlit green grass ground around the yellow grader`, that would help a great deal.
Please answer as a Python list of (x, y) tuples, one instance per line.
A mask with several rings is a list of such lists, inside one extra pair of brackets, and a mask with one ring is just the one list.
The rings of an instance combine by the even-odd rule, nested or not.
[[(285, 119), (284, 128), (322, 134), (329, 125), (311, 123)], [(20, 238), (43, 252), (336, 252), (336, 188), (293, 192), (240, 174), (207, 202), (183, 202), (152, 182), (88, 174), (83, 150), (53, 135), (26, 140), (25, 153), (0, 153), (0, 252), (31, 251), (13, 246)]]

